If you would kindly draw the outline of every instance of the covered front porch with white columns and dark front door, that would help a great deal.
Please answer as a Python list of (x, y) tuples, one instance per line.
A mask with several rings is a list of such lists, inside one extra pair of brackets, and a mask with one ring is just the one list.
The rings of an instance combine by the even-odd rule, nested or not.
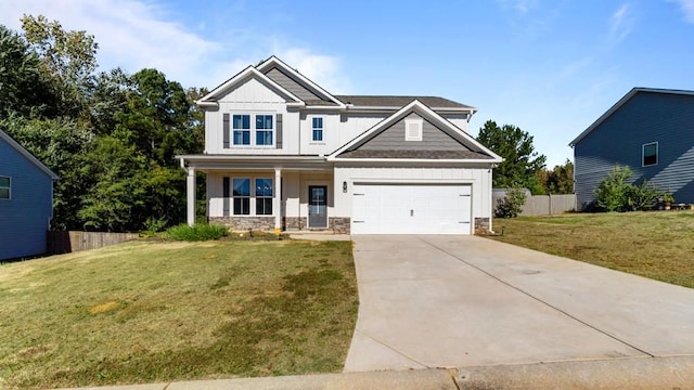
[[(254, 156), (256, 157), (256, 156)], [(188, 171), (188, 223), (195, 223), (195, 172), (206, 174), (207, 221), (234, 231), (349, 233), (349, 217), (335, 214), (333, 166), (322, 157), (181, 156)]]

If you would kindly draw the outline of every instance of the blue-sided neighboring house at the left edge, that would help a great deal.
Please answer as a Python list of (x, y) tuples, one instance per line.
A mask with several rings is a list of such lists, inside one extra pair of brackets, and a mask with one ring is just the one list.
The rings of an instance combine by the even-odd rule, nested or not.
[(46, 252), (57, 176), (0, 130), (0, 260)]

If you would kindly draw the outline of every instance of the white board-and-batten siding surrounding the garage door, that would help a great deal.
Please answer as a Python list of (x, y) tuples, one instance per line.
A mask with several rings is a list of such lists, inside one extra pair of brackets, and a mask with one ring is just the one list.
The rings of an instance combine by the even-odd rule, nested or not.
[[(347, 182), (347, 192), (343, 192)], [(472, 218), (491, 218), (491, 169), (489, 167), (335, 167), (335, 217), (351, 214), (355, 183), (472, 184)]]

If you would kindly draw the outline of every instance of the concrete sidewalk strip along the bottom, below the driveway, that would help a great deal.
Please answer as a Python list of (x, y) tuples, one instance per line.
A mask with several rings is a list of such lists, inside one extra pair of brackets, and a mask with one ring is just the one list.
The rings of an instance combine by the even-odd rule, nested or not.
[(478, 366), (459, 369), (345, 373), (216, 379), (82, 390), (480, 390), (480, 389), (694, 389), (694, 358)]

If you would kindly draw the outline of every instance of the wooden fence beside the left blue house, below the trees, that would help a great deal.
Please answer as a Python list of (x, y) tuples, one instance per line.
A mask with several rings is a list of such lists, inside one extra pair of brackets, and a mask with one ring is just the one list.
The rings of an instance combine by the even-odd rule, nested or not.
[(108, 245), (136, 239), (138, 233), (103, 233), (103, 232), (48, 232), (48, 252), (67, 253), (79, 250), (97, 249)]

